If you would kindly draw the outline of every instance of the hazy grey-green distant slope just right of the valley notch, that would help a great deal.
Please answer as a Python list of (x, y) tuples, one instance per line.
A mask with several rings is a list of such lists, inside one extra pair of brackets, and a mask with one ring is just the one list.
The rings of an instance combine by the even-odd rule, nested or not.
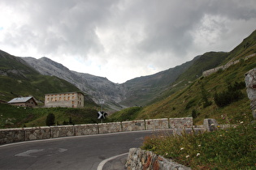
[(126, 99), (121, 104), (134, 106), (145, 105), (166, 90), (167, 87), (173, 83), (178, 76), (183, 73), (197, 60), (195, 57), (190, 62), (185, 62), (180, 66), (163, 70), (156, 74), (142, 76), (139, 78), (128, 80), (124, 83), (126, 87)]

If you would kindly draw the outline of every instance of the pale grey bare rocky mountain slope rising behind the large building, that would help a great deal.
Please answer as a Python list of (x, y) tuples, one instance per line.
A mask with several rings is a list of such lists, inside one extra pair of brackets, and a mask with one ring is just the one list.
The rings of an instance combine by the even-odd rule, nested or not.
[(68, 70), (67, 67), (47, 57), (41, 57), (40, 59), (23, 57), (23, 59), (41, 74), (54, 75), (72, 83), (80, 91), (88, 94), (96, 103), (98, 103), (98, 100), (104, 99), (111, 108), (122, 108), (117, 104), (124, 99), (124, 87), (122, 85), (112, 83), (106, 78)]

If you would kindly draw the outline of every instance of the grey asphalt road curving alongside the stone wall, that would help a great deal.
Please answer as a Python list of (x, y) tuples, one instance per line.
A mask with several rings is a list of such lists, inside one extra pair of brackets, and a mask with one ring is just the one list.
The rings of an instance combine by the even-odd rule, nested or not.
[[(129, 148), (157, 131), (97, 134), (0, 146), (0, 169), (124, 169)], [(123, 154), (123, 155), (122, 155)], [(112, 159), (116, 155), (121, 155)], [(109, 159), (109, 160), (107, 160)], [(116, 167), (116, 168), (114, 168)]]

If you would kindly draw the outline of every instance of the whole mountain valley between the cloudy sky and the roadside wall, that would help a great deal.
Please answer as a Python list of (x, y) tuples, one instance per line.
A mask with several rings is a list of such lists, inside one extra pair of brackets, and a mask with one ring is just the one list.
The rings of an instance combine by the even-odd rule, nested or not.
[[(241, 115), (250, 113), (245, 88), (240, 90), (243, 94), (241, 100), (222, 108), (215, 104), (215, 94), (226, 91), (228, 84), (243, 82), (245, 73), (256, 67), (256, 57), (245, 58), (256, 53), (255, 45), (254, 31), (230, 52), (207, 52), (180, 66), (121, 84), (69, 70), (47, 57), (15, 57), (0, 51), (0, 100), (4, 102), (16, 96), (34, 96), (42, 106), (44, 94), (82, 91), (85, 94), (85, 108), (92, 109), (91, 116), (100, 109), (98, 100), (106, 101), (104, 109), (112, 113), (106, 121), (193, 116), (195, 124), (202, 123), (207, 117), (233, 123), (240, 119)], [(214, 74), (202, 75), (206, 70), (237, 60), (240, 62), (226, 70), (220, 69)], [(52, 112), (55, 112), (54, 109)], [(80, 113), (78, 110), (72, 112)], [(6, 114), (4, 113), (2, 118), (5, 121), (8, 118)], [(46, 114), (41, 116), (46, 118)], [(39, 120), (40, 117), (29, 121), (36, 119)], [(60, 120), (64, 119), (67, 120), (68, 116)], [(98, 121), (94, 118), (92, 120)], [(24, 121), (19, 125), (37, 123), (29, 124)]]

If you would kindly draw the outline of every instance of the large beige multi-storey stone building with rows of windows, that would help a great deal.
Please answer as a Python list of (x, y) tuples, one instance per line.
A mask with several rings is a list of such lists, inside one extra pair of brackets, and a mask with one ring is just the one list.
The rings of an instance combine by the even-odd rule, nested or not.
[(63, 92), (46, 94), (45, 106), (47, 108), (83, 108), (84, 94), (81, 92)]

